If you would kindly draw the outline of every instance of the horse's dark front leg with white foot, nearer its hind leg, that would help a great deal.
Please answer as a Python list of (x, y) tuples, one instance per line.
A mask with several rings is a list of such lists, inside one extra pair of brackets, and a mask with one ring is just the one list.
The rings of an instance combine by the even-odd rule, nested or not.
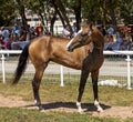
[(81, 99), (84, 92), (84, 87), (86, 83), (86, 79), (89, 77), (89, 71), (88, 70), (82, 70), (81, 72), (81, 79), (80, 79), (80, 85), (79, 85), (79, 95), (78, 95), (78, 101), (76, 101), (76, 106), (78, 106), (78, 111), (80, 113), (83, 113), (82, 106), (81, 106)]

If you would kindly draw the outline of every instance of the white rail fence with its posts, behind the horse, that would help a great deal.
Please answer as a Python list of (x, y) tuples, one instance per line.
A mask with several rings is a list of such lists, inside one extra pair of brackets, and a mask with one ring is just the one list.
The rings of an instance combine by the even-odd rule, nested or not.
[[(2, 71), (2, 82), (6, 83), (6, 54), (20, 54), (21, 50), (0, 50), (0, 55), (1, 55), (1, 71)], [(133, 51), (104, 51), (104, 55), (125, 55), (126, 59), (126, 85), (127, 89), (132, 89), (131, 87), (131, 55), (133, 55)], [(112, 67), (112, 65), (110, 65)], [(104, 68), (103, 68), (104, 70)], [(111, 71), (110, 71), (111, 72)], [(64, 78), (63, 78), (64, 71), (63, 67), (60, 65), (60, 85), (64, 85)]]

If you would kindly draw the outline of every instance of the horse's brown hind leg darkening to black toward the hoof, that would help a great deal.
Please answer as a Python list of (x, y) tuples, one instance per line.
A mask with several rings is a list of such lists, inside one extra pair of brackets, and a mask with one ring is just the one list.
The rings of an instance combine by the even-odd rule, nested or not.
[(48, 64), (35, 67), (35, 74), (32, 80), (33, 96), (40, 111), (42, 111), (43, 108), (42, 108), (41, 100), (40, 100), (39, 88), (40, 88), (40, 82), (43, 75), (43, 71), (47, 68), (47, 65)]

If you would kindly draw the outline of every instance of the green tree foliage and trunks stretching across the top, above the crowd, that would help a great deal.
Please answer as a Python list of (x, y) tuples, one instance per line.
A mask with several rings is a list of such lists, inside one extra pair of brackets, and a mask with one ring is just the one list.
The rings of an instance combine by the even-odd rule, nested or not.
[(0, 6), (0, 24), (9, 26), (11, 20), (21, 16), (27, 24), (25, 10), (31, 10), (41, 19), (44, 29), (53, 26), (59, 17), (62, 24), (70, 24), (69, 14), (75, 16), (80, 29), (81, 18), (95, 24), (117, 24), (133, 22), (133, 0), (2, 0)]

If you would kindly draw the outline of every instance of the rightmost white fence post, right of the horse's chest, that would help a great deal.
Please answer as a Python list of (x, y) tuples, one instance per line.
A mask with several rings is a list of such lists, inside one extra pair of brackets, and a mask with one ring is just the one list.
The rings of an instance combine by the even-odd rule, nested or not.
[(131, 90), (131, 67), (130, 67), (130, 62), (131, 62), (131, 59), (130, 59), (130, 55), (126, 55), (127, 59), (125, 59), (127, 61), (127, 89)]

